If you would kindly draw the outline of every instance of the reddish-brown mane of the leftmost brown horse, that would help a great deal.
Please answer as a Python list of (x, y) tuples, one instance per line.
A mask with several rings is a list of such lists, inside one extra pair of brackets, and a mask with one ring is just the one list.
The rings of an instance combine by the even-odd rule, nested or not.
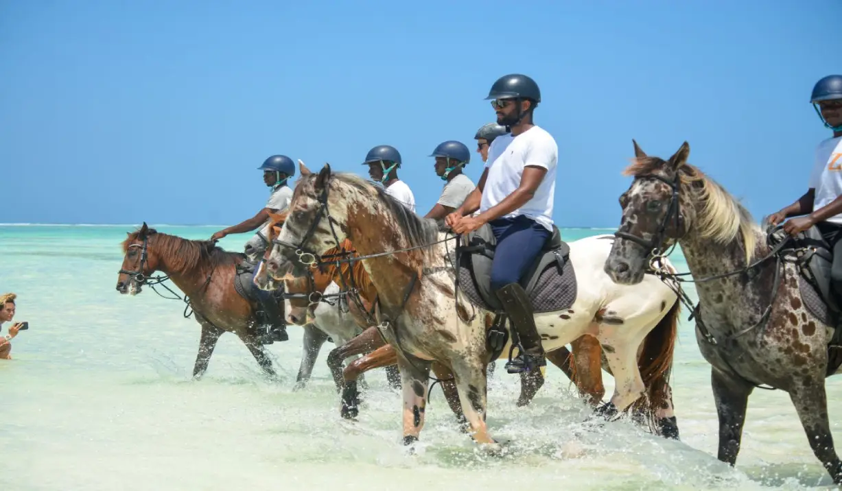
[[(139, 238), (141, 230), (131, 232), (123, 241), (123, 253), (129, 250), (129, 245)], [(214, 269), (219, 266), (237, 264), (245, 255), (239, 252), (225, 251), (210, 240), (189, 240), (177, 235), (168, 235), (155, 229), (147, 229), (147, 238), (154, 238), (155, 252), (159, 256), (167, 257), (167, 266), (173, 272), (187, 272), (199, 267)], [(149, 243), (152, 248), (152, 241)]]

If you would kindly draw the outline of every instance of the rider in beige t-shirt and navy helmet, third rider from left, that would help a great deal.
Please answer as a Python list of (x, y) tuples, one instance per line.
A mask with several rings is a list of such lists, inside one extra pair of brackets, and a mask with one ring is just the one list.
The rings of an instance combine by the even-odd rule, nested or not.
[(445, 181), (439, 201), (424, 215), (425, 219), (444, 219), (465, 203), (465, 198), (476, 187), (462, 167), (471, 161), (471, 150), (460, 141), (447, 140), (435, 147), (429, 156), (435, 157), (435, 173)]

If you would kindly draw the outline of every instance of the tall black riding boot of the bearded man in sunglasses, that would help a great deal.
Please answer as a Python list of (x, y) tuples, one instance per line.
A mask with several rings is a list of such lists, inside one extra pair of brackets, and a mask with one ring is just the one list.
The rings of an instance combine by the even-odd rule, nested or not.
[(520, 337), (518, 356), (506, 363), (509, 373), (533, 372), (546, 366), (541, 336), (535, 325), (532, 303), (524, 288), (518, 283), (509, 283), (497, 291), (497, 298), (503, 304), (512, 327)]

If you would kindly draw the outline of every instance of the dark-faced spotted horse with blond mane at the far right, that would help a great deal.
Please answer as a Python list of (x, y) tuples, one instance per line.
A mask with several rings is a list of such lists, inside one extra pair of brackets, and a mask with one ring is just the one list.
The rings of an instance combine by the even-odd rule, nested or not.
[(737, 462), (749, 394), (769, 384), (790, 394), (813, 453), (842, 483), (824, 389), (836, 369), (828, 367), (833, 330), (806, 308), (796, 251), (767, 243), (748, 210), (687, 163), (686, 142), (667, 161), (647, 156), (637, 142), (634, 150), (626, 169), (634, 180), (620, 198), (605, 272), (618, 284), (640, 284), (653, 257), (681, 245), (699, 294), (696, 342), (711, 364), (719, 460)]

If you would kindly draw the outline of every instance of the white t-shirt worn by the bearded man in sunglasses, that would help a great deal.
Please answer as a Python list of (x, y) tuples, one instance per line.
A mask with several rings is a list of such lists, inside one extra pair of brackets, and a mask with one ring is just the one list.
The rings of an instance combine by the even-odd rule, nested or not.
[(498, 136), (488, 147), (488, 177), (482, 189), (480, 213), (496, 206), (520, 187), (525, 166), (546, 168), (546, 175), (536, 189), (535, 196), (519, 209), (501, 218), (525, 215), (552, 231), (552, 205), (556, 194), (558, 145), (552, 135), (539, 126), (512, 136)]

